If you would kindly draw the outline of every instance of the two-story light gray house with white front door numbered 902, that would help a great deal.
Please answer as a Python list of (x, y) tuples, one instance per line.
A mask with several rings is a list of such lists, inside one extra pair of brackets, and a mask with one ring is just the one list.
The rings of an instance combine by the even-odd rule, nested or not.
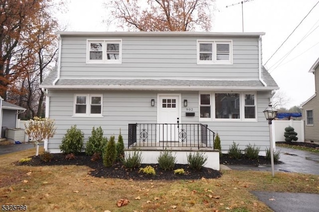
[[(182, 124), (193, 124), (192, 138), (202, 136), (201, 145), (208, 130), (219, 133), (223, 150), (233, 142), (241, 149), (269, 147), (263, 110), (279, 88), (262, 66), (264, 33), (57, 34), (58, 65), (40, 86), (47, 94), (46, 116), (57, 126), (46, 150), (60, 152), (74, 124), (86, 140), (93, 126), (102, 126), (108, 138), (121, 130), (126, 146), (153, 133), (152, 142), (190, 141), (195, 128), (187, 132)], [(171, 125), (149, 129), (157, 123)]]

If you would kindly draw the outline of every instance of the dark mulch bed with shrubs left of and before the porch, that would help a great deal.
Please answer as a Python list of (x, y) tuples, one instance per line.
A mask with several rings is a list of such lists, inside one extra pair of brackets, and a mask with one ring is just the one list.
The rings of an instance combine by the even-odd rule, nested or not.
[[(54, 166), (54, 165), (85, 165), (92, 170), (89, 174), (93, 177), (100, 178), (119, 178), (119, 179), (133, 179), (133, 180), (195, 180), (195, 179), (211, 179), (221, 177), (221, 172), (203, 167), (201, 170), (193, 170), (184, 164), (175, 164), (175, 169), (184, 169), (185, 174), (175, 175), (173, 171), (163, 171), (158, 164), (142, 164), (136, 169), (127, 169), (121, 163), (116, 163), (112, 167), (105, 167), (102, 159), (91, 161), (91, 156), (84, 153), (78, 154), (74, 159), (66, 160), (65, 154), (53, 154), (53, 159), (49, 162), (44, 162), (40, 156), (33, 156), (32, 160), (26, 163), (17, 163), (17, 165), (28, 166)], [(152, 166), (156, 175), (148, 175), (139, 172), (140, 168)]]

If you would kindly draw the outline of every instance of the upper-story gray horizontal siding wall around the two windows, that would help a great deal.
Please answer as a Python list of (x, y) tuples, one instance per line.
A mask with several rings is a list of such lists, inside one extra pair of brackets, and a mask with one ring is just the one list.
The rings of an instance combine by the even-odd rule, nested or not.
[[(61, 78), (258, 80), (259, 37), (199, 37), (233, 41), (233, 64), (197, 65), (196, 37), (62, 36)], [(122, 64), (86, 64), (87, 39), (122, 39)]]

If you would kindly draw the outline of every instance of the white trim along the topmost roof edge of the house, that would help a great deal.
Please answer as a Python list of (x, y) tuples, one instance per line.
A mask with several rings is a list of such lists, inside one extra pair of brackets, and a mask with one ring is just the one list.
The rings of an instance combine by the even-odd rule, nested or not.
[(57, 31), (57, 35), (71, 36), (260, 36), (265, 32), (80, 32)]

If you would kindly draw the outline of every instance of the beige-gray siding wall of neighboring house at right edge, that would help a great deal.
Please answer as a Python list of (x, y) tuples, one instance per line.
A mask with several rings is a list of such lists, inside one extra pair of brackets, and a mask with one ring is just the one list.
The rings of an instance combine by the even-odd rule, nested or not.
[[(319, 66), (315, 71), (316, 96), (303, 106), (303, 118), (305, 119), (305, 140), (319, 142)], [(306, 110), (313, 110), (314, 125), (307, 125)]]

